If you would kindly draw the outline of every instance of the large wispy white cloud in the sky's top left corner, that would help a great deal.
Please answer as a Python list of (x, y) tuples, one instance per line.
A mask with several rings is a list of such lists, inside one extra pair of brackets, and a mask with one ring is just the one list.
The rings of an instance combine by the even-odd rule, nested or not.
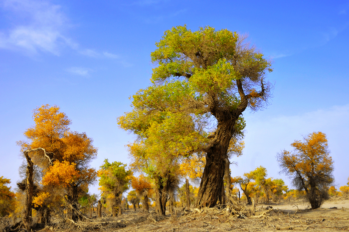
[(17, 21), (12, 28), (1, 31), (1, 48), (59, 55), (61, 46), (77, 47), (64, 35), (69, 23), (60, 5), (49, 1), (5, 0), (2, 7), (14, 14)]

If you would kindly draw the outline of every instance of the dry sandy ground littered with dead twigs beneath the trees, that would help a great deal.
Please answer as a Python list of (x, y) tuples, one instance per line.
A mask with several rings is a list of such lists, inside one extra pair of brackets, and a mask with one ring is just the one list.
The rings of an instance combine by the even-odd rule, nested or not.
[[(233, 208), (203, 208), (174, 210), (174, 215), (159, 216), (140, 210), (127, 210), (117, 218), (94, 217), (86, 222), (72, 222), (55, 218), (46, 227), (36, 225), (37, 232), (221, 232), (221, 231), (349, 231), (349, 200), (328, 201), (326, 208), (306, 209), (302, 202), (245, 206)], [(337, 206), (337, 207), (336, 207)], [(346, 207), (343, 207), (346, 206)], [(227, 210), (229, 209), (229, 210)], [(11, 221), (2, 218), (0, 232), (19, 232), (10, 227)], [(41, 227), (40, 227), (41, 226)], [(11, 230), (12, 229), (12, 230)]]

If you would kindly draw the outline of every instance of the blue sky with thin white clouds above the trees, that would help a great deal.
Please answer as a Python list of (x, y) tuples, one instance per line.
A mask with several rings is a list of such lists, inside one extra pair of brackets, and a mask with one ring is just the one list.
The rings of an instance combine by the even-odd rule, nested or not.
[[(337, 187), (347, 183), (349, 142), (349, 0), (0, 0), (0, 176), (19, 180), (19, 147), (32, 110), (58, 105), (104, 159), (129, 163), (134, 136), (116, 119), (129, 96), (150, 85), (150, 53), (165, 30), (186, 24), (248, 34), (273, 59), (273, 98), (244, 112), (244, 155), (232, 176), (262, 165), (290, 181), (276, 154), (314, 131), (327, 134)], [(97, 193), (97, 187), (91, 192)]]

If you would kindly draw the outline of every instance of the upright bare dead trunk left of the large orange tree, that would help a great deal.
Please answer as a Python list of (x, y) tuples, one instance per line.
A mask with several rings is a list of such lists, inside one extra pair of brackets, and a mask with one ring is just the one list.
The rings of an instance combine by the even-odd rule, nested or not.
[(28, 231), (31, 230), (31, 209), (32, 209), (32, 202), (33, 202), (33, 190), (34, 190), (34, 183), (33, 183), (33, 162), (31, 161), (31, 158), (29, 157), (27, 152), (24, 152), (25, 159), (27, 161), (26, 166), (26, 186), (25, 186), (25, 206), (22, 213), (22, 222), (24, 225), (24, 228)]

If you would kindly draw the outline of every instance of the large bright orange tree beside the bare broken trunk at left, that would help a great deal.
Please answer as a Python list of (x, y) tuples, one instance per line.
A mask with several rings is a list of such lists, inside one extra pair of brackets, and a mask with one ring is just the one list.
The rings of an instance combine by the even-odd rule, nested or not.
[[(97, 156), (97, 148), (85, 133), (70, 131), (70, 119), (59, 110), (56, 105), (34, 109), (35, 125), (24, 132), (27, 141), (17, 144), (21, 146), (28, 166), (37, 165), (43, 173), (43, 192), (34, 196), (35, 205), (43, 206), (47, 202), (45, 198), (59, 192), (66, 203), (68, 218), (76, 220), (78, 195), (97, 177), (96, 171), (89, 168), (89, 163)], [(30, 178), (26, 176), (28, 182)]]

